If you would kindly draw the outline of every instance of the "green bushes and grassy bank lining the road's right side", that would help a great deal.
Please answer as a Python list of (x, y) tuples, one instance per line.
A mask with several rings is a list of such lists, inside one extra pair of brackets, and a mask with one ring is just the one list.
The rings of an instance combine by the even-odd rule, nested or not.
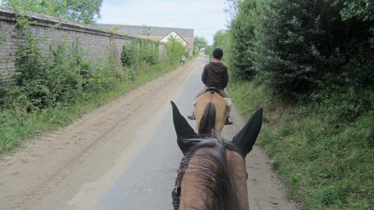
[[(374, 209), (373, 4), (226, 0), (229, 94), (304, 209)], [(220, 38), (224, 37), (224, 38)], [(208, 51), (208, 52), (207, 52)]]

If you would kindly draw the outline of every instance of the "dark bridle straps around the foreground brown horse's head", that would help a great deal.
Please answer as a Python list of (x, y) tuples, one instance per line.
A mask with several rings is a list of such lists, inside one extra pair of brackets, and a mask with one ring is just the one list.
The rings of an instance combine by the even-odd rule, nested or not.
[[(234, 143), (232, 143), (229, 140), (224, 139), (224, 145), (225, 145), (225, 148), (231, 149), (231, 150), (237, 152), (238, 154), (240, 154), (240, 156), (242, 156), (242, 158), (245, 162), (245, 156), (240, 151), (240, 149), (237, 148), (237, 146)], [(201, 148), (205, 148), (205, 147), (212, 147), (212, 145), (210, 145), (206, 142), (196, 143), (194, 146), (192, 146), (190, 148), (190, 150), (188, 150), (188, 152), (183, 156), (183, 158), (181, 160), (179, 168), (177, 169), (178, 175), (177, 175), (177, 178), (175, 178), (175, 186), (174, 186), (174, 189), (171, 192), (171, 197), (172, 197), (172, 200), (173, 200), (172, 203), (173, 203), (174, 210), (179, 209), (180, 195), (181, 195), (180, 194), (181, 193), (181, 182), (182, 182), (182, 179), (183, 179), (183, 176), (184, 176), (184, 172), (186, 172), (186, 170), (188, 168), (188, 165), (190, 163), (190, 160), (193, 157), (193, 155), (196, 153), (196, 151), (201, 149)], [(248, 173), (247, 173), (247, 179), (248, 179)]]

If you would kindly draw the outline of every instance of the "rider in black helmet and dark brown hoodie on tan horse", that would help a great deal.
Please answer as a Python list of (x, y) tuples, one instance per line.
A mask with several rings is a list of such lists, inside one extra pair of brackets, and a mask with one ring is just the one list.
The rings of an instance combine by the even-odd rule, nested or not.
[[(195, 96), (198, 98), (200, 95), (205, 93), (205, 90), (208, 87), (215, 87), (220, 91), (220, 95), (223, 98), (230, 98), (229, 94), (227, 94), (225, 87), (227, 83), (229, 83), (229, 73), (227, 72), (227, 67), (223, 65), (220, 61), (223, 57), (223, 50), (221, 48), (216, 48), (213, 50), (213, 61), (206, 64), (201, 75), (201, 80), (205, 84), (204, 88), (197, 93)], [(229, 114), (231, 110), (231, 105), (227, 108), (227, 118), (225, 125), (233, 124), (232, 121), (229, 121)], [(194, 111), (191, 112), (188, 116), (190, 120), (196, 120)]]

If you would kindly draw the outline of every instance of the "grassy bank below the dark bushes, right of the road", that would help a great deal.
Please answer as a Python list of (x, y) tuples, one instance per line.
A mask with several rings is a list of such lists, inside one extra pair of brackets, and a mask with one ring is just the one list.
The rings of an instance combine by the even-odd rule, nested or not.
[(264, 106), (257, 144), (272, 158), (289, 200), (308, 210), (374, 209), (374, 91), (324, 91), (292, 104), (269, 89), (234, 82), (229, 94), (243, 117)]

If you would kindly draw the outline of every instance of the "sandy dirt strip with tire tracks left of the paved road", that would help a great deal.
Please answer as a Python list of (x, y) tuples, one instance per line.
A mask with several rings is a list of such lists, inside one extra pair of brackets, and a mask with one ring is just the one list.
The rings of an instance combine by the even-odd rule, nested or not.
[(66, 206), (80, 185), (105, 173), (131, 144), (136, 126), (148, 120), (146, 115), (143, 119), (138, 115), (151, 114), (161, 104), (169, 103), (168, 95), (197, 65), (194, 59), (184, 68), (95, 109), (67, 127), (31, 140), (22, 151), (4, 157), (6, 161), (0, 165), (0, 207), (18, 210)]

